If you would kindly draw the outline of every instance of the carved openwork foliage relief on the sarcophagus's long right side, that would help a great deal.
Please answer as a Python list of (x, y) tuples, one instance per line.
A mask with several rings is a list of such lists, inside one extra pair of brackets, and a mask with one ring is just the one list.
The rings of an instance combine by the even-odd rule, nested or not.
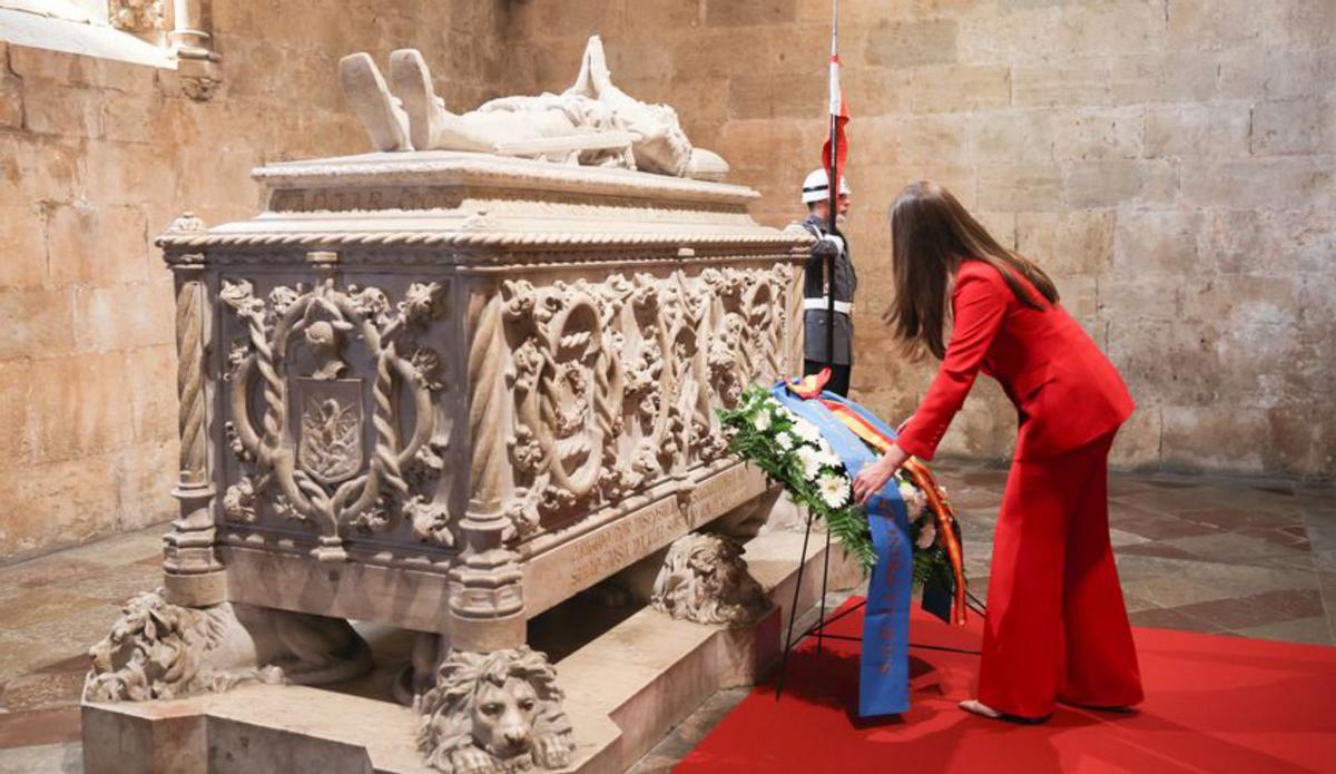
[[(792, 269), (776, 265), (707, 269), (696, 279), (505, 282), (516, 481), (508, 539), (723, 456), (713, 409), (782, 373), (791, 279)], [(628, 421), (639, 440), (621, 455)]]

